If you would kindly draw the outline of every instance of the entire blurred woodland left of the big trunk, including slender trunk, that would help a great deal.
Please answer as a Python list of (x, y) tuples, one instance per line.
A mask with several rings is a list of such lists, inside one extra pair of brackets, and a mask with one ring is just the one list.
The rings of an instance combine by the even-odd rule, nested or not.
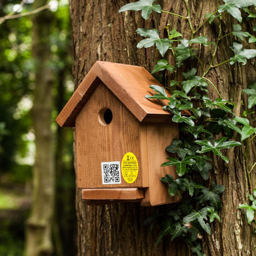
[[(25, 230), (45, 223), (53, 239), (44, 255), (76, 255), (73, 134), (55, 122), (73, 92), (68, 0), (0, 1), (0, 35), (0, 255), (23, 255)], [(47, 212), (53, 220), (38, 223)]]

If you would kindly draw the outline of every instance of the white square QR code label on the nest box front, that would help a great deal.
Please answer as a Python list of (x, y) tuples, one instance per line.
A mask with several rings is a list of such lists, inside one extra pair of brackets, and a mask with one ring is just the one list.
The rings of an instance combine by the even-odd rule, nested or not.
[(120, 162), (101, 163), (102, 184), (121, 184)]

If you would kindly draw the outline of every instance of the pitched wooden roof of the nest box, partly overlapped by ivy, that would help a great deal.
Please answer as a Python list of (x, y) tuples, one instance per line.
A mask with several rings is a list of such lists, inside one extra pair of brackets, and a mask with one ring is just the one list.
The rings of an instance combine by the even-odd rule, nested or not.
[(153, 95), (154, 93), (149, 88), (150, 85), (162, 86), (145, 68), (96, 61), (56, 118), (56, 122), (60, 126), (75, 127), (77, 114), (100, 81), (123, 102), (139, 121), (171, 121), (171, 114), (162, 109), (167, 101), (145, 98), (146, 94)]

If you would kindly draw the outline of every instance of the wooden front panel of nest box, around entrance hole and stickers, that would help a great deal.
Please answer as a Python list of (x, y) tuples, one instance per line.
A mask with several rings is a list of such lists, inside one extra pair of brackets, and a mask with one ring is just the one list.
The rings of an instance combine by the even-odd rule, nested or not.
[[(112, 122), (106, 126), (98, 120), (104, 107), (113, 114)], [(101, 82), (76, 118), (78, 187), (148, 187), (145, 125)], [(132, 152), (138, 160), (136, 180), (129, 184), (121, 174), (121, 184), (102, 184), (101, 162), (121, 164), (127, 152)]]

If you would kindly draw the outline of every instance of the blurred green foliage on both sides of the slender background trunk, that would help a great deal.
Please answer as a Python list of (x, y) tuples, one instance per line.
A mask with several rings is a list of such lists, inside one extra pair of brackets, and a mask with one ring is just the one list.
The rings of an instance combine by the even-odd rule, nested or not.
[[(26, 0), (20, 8), (17, 1), (1, 1), (0, 17), (19, 8), (17, 14), (34, 10), (33, 2)], [(49, 209), (54, 212), (51, 238), (53, 255), (75, 255), (77, 224), (72, 130), (60, 129), (54, 121), (73, 92), (69, 5), (67, 0), (49, 3), (51, 17), (45, 24), (49, 31), (49, 59), (46, 62), (52, 73), (52, 89), (48, 93), (53, 98), (50, 129), (54, 138), (56, 194), (54, 209)], [(46, 15), (49, 11), (43, 12)], [(42, 58), (32, 55), (34, 20), (30, 15), (8, 19), (0, 25), (0, 255), (23, 254), (25, 221), (32, 204), (35, 127), (31, 108), (37, 64)]]

